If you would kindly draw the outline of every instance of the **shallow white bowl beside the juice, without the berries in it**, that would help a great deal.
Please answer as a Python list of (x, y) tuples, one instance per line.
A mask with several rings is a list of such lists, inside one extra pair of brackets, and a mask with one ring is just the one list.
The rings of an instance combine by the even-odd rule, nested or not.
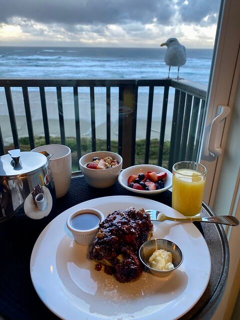
[[(138, 175), (140, 172), (146, 173), (148, 170), (154, 171), (154, 172), (166, 172), (166, 178), (164, 179), (164, 188), (157, 189), (157, 190), (137, 190), (132, 189), (129, 186), (127, 186), (127, 179), (129, 175), (135, 174)], [(118, 182), (123, 186), (123, 188), (135, 192), (135, 193), (141, 193), (141, 194), (155, 194), (163, 192), (171, 187), (172, 184), (172, 173), (168, 171), (167, 169), (153, 164), (137, 164), (129, 166), (128, 168), (125, 168), (120, 172), (118, 175)]]

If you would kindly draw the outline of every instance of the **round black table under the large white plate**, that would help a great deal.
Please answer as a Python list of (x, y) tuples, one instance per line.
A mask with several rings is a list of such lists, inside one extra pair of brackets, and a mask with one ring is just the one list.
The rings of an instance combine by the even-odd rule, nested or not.
[[(68, 193), (56, 200), (51, 213), (33, 220), (27, 216), (15, 216), (0, 223), (0, 318), (4, 320), (56, 320), (54, 315), (38, 297), (30, 278), (30, 256), (33, 245), (42, 229), (67, 208), (97, 197), (110, 195), (137, 195), (116, 182), (112, 187), (95, 189), (85, 182), (83, 176), (73, 177)], [(140, 195), (142, 196), (142, 195)], [(165, 191), (147, 198), (171, 206), (171, 192)], [(202, 204), (202, 216), (214, 215)], [(195, 225), (203, 234), (211, 256), (210, 280), (199, 301), (181, 319), (210, 319), (214, 313), (226, 283), (229, 249), (224, 229), (213, 223)]]

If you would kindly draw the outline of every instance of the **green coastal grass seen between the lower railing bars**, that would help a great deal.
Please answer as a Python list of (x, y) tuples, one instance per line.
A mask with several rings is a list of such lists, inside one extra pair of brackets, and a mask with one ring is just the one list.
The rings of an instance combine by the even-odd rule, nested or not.
[[(58, 136), (50, 136), (50, 143), (61, 143), (60, 137)], [(35, 136), (34, 137), (34, 144), (35, 147), (44, 145), (45, 139), (43, 136)], [(76, 138), (75, 137), (66, 137), (65, 138), (65, 145), (67, 145), (71, 149), (71, 158), (72, 158), (72, 171), (78, 170), (78, 158), (76, 152)], [(135, 147), (135, 164), (143, 164), (144, 157), (145, 157), (145, 146), (146, 141), (145, 139), (136, 140), (136, 147)], [(162, 166), (167, 168), (168, 164), (168, 157), (169, 157), (169, 147), (170, 141), (164, 141), (163, 144), (163, 151), (162, 151)], [(13, 144), (9, 144), (5, 147), (5, 153), (8, 150), (14, 148)], [(29, 151), (29, 139), (27, 136), (19, 138), (19, 148), (21, 151)], [(111, 141), (112, 152), (118, 151), (118, 142), (116, 140)], [(105, 139), (96, 139), (96, 150), (106, 150), (106, 140)], [(82, 137), (81, 138), (81, 154), (85, 154), (91, 152), (91, 139)], [(157, 157), (159, 152), (159, 139), (151, 139), (150, 146), (149, 146), (149, 164), (157, 164)]]

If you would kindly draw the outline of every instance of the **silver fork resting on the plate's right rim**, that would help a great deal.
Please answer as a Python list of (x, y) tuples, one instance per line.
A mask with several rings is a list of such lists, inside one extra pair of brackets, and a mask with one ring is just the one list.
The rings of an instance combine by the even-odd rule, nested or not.
[(227, 225), (238, 225), (239, 221), (236, 217), (231, 215), (217, 215), (217, 216), (208, 216), (208, 217), (198, 217), (198, 218), (173, 218), (165, 215), (164, 213), (154, 210), (148, 209), (145, 210), (146, 213), (149, 213), (152, 221), (178, 221), (178, 222), (210, 222), (210, 223), (218, 223), (218, 224), (227, 224)]

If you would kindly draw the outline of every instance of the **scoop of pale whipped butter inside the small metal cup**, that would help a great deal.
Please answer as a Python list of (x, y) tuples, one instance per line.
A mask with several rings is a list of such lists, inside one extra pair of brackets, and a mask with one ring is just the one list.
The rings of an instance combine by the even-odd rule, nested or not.
[(157, 270), (166, 271), (174, 268), (171, 252), (163, 249), (155, 250), (149, 257), (148, 264)]

